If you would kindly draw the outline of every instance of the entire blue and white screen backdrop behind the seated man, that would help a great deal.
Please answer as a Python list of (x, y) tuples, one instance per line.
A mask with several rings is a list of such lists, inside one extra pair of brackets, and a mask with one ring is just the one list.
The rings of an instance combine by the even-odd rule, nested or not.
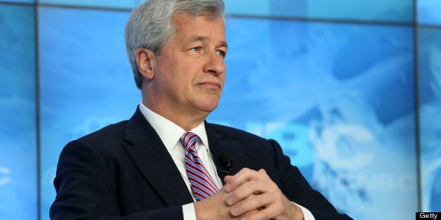
[[(139, 3), (0, 0), (0, 219), (48, 219), (62, 147), (135, 111), (124, 25)], [(354, 219), (441, 212), (441, 4), (417, 3), (225, 0), (208, 121), (276, 139)]]

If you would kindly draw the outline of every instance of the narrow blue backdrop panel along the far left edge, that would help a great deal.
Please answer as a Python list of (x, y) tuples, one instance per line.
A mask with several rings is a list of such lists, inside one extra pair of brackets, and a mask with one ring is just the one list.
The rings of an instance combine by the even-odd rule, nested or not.
[(0, 219), (37, 216), (34, 8), (0, 4)]

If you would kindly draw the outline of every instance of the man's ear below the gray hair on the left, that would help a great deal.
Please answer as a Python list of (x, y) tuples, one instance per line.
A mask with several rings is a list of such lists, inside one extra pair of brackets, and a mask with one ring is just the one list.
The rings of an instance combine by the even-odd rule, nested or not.
[(136, 64), (138, 70), (147, 79), (152, 79), (154, 76), (154, 65), (156, 62), (156, 55), (147, 48), (138, 48), (136, 50)]

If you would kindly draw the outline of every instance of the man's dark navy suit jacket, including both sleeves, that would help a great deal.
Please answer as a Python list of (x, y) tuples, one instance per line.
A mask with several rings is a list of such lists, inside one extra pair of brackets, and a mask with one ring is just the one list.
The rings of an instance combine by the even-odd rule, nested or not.
[[(221, 160), (228, 152), (230, 174), (243, 167), (265, 169), (289, 200), (316, 219), (350, 219), (310, 187), (274, 140), (205, 126), (218, 170), (228, 169)], [(129, 121), (67, 144), (54, 185), (51, 219), (183, 219), (182, 205), (193, 202), (169, 152), (139, 109)]]

